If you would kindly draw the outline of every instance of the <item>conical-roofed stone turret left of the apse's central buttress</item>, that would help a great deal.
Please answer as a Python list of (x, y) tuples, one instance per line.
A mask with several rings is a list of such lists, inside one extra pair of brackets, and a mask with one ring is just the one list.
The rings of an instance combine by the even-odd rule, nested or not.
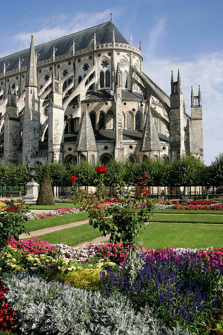
[(80, 130), (77, 135), (75, 145), (75, 160), (77, 163), (87, 160), (92, 165), (97, 162), (97, 146), (94, 137), (94, 131), (91, 125), (90, 116), (85, 106), (85, 111), (80, 124)]

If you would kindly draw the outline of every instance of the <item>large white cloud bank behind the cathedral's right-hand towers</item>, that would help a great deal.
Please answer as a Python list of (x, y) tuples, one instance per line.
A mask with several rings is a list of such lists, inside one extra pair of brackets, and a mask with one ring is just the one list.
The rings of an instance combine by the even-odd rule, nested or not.
[(175, 59), (156, 59), (143, 62), (143, 71), (157, 83), (167, 94), (170, 94), (171, 70), (174, 79), (177, 69), (180, 70), (181, 88), (187, 113), (190, 115), (191, 85), (194, 94), (201, 86), (203, 110), (204, 159), (209, 164), (214, 157), (223, 152), (223, 56), (222, 53), (197, 55), (192, 61)]

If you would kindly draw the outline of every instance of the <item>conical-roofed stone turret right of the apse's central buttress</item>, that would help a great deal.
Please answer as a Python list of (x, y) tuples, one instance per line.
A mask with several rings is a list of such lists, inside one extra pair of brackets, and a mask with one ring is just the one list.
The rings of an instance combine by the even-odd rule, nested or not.
[(143, 129), (142, 139), (139, 148), (139, 162), (142, 162), (146, 158), (159, 157), (162, 151), (159, 136), (155, 127), (154, 119), (150, 111), (150, 105), (148, 108), (145, 126)]

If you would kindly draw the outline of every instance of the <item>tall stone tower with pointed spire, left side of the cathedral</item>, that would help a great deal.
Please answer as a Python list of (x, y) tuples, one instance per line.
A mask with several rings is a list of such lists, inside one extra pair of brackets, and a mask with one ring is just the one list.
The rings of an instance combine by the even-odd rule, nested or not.
[(33, 45), (33, 36), (29, 48), (29, 56), (25, 80), (25, 108), (23, 113), (22, 160), (30, 160), (32, 164), (39, 154), (40, 111), (38, 111), (37, 70)]

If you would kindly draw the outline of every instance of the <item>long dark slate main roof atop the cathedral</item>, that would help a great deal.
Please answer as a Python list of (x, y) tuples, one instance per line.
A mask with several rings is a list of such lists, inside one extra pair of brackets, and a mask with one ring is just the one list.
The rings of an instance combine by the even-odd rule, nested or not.
[[(96, 44), (103, 44), (112, 42), (113, 30), (115, 31), (116, 43), (129, 44), (126, 39), (122, 36), (121, 32), (116, 28), (113, 22), (105, 22), (94, 27), (75, 32), (74, 34), (61, 37), (57, 40), (40, 44), (35, 47), (35, 52), (40, 54), (37, 61), (43, 61), (49, 58), (53, 58), (54, 46), (57, 49), (55, 55), (60, 56), (69, 52), (73, 52), (73, 40), (75, 42), (75, 50), (84, 49), (87, 47), (94, 46), (94, 33), (96, 35)], [(34, 36), (35, 40), (35, 36)], [(0, 59), (0, 73), (3, 72), (4, 62), (6, 65), (6, 72), (18, 68), (19, 57), (21, 67), (26, 66), (28, 62), (29, 49), (19, 51), (9, 56), (2, 57)], [(9, 64), (9, 66), (7, 66)]]

